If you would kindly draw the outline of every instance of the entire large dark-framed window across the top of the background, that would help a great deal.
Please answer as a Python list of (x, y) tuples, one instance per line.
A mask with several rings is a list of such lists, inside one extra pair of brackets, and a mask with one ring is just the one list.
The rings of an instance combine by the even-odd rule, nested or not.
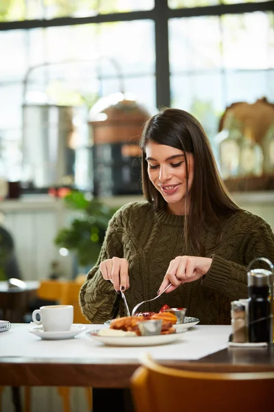
[(2, 3), (2, 151), (22, 149), (23, 102), (91, 106), (124, 89), (151, 113), (169, 105), (190, 111), (213, 144), (227, 105), (274, 102), (271, 1)]

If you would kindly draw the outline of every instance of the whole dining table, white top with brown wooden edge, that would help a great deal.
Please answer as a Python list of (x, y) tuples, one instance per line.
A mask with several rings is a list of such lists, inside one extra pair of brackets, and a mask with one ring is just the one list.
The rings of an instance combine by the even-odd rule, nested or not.
[[(100, 326), (87, 325), (87, 330)], [(142, 352), (181, 369), (274, 371), (273, 347), (227, 348), (229, 325), (196, 325), (178, 341), (151, 347), (105, 346), (86, 332), (66, 341), (43, 341), (27, 332), (29, 327), (34, 325), (12, 324), (0, 333), (0, 386), (128, 388)]]

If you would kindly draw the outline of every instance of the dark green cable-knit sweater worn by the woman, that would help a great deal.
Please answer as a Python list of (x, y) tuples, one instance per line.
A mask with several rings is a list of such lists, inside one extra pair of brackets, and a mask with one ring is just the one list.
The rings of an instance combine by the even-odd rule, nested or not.
[[(203, 281), (198, 279), (179, 286), (171, 293), (143, 305), (140, 310), (158, 312), (164, 304), (186, 308), (186, 315), (197, 317), (200, 324), (229, 324), (230, 303), (247, 298), (247, 265), (253, 258), (274, 262), (274, 235), (262, 218), (248, 211), (239, 211), (221, 222), (223, 238), (216, 244), (216, 235), (203, 233), (206, 257), (212, 258)], [(125, 258), (129, 262), (130, 287), (125, 291), (129, 310), (138, 302), (155, 297), (169, 262), (186, 255), (183, 235), (184, 216), (169, 214), (165, 209), (153, 210), (146, 201), (129, 203), (110, 220), (99, 260), (88, 273), (79, 302), (91, 323), (103, 323), (125, 316), (121, 295), (99, 270), (102, 260)], [(190, 255), (190, 253), (188, 253)], [(199, 256), (198, 251), (191, 255)]]

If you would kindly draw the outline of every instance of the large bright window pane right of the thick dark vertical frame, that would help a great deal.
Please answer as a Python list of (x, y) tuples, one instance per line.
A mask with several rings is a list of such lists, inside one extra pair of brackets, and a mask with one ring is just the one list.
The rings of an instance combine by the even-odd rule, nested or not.
[(213, 144), (226, 106), (274, 102), (272, 13), (171, 19), (169, 28), (171, 104), (196, 115)]

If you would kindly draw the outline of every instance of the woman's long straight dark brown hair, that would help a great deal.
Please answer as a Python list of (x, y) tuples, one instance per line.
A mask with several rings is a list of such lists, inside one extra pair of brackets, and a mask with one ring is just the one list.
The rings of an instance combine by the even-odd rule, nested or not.
[[(185, 216), (184, 237), (187, 247), (188, 244), (192, 248), (197, 247), (199, 253), (204, 255), (204, 244), (201, 241), (203, 229), (214, 229), (221, 241), (219, 218), (229, 217), (241, 210), (229, 196), (221, 179), (206, 132), (195, 117), (177, 108), (164, 108), (145, 123), (140, 139), (142, 191), (147, 201), (153, 203), (157, 211), (164, 207), (166, 202), (149, 180), (145, 159), (145, 150), (149, 141), (184, 151), (186, 205), (189, 204), (188, 215)], [(190, 190), (188, 190), (187, 152), (192, 153), (194, 157), (194, 176)]]

